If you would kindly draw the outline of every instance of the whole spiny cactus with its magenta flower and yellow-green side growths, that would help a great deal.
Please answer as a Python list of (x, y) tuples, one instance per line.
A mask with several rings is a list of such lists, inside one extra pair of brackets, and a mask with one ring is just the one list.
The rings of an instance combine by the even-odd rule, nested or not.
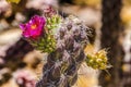
[[(90, 28), (73, 15), (61, 18), (51, 8), (45, 14), (45, 16), (35, 15), (28, 23), (20, 25), (23, 36), (34, 47), (48, 52), (43, 77), (36, 87), (71, 87), (78, 79), (81, 63), (86, 61), (87, 65), (94, 69), (90, 60), (99, 58), (95, 55), (94, 59), (91, 55), (93, 59), (85, 60), (84, 48), (88, 44)], [(98, 61), (96, 64), (102, 63), (103, 61)], [(107, 64), (107, 61), (104, 64)]]

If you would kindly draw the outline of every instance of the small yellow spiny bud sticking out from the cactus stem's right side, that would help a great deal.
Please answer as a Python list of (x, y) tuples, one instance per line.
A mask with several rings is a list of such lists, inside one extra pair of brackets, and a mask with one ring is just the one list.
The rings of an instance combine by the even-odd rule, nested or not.
[(85, 62), (94, 70), (106, 70), (111, 67), (111, 65), (108, 63), (107, 51), (105, 49), (94, 53), (88, 53), (86, 55)]

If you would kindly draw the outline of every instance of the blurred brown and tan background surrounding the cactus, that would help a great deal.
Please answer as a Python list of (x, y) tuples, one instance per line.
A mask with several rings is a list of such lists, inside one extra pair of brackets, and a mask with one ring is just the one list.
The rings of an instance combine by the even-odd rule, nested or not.
[(131, 87), (131, 0), (0, 0), (0, 87), (35, 87), (41, 76), (46, 54), (22, 38), (19, 24), (47, 5), (92, 28), (85, 52), (108, 49), (110, 75), (82, 64), (74, 87)]

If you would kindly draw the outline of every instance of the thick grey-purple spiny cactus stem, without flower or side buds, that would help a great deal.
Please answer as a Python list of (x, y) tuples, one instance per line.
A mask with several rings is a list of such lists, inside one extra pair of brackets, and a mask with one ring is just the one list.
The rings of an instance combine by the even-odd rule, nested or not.
[(78, 70), (85, 60), (84, 47), (88, 28), (74, 16), (67, 17), (56, 36), (56, 50), (47, 57), (43, 77), (36, 87), (71, 87), (78, 79)]

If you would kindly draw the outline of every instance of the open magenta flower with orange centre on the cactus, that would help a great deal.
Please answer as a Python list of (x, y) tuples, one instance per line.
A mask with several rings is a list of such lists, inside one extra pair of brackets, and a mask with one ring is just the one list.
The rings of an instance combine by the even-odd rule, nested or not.
[(26, 24), (20, 24), (20, 28), (23, 30), (23, 36), (29, 39), (36, 39), (44, 33), (44, 26), (46, 18), (39, 15), (34, 15)]

